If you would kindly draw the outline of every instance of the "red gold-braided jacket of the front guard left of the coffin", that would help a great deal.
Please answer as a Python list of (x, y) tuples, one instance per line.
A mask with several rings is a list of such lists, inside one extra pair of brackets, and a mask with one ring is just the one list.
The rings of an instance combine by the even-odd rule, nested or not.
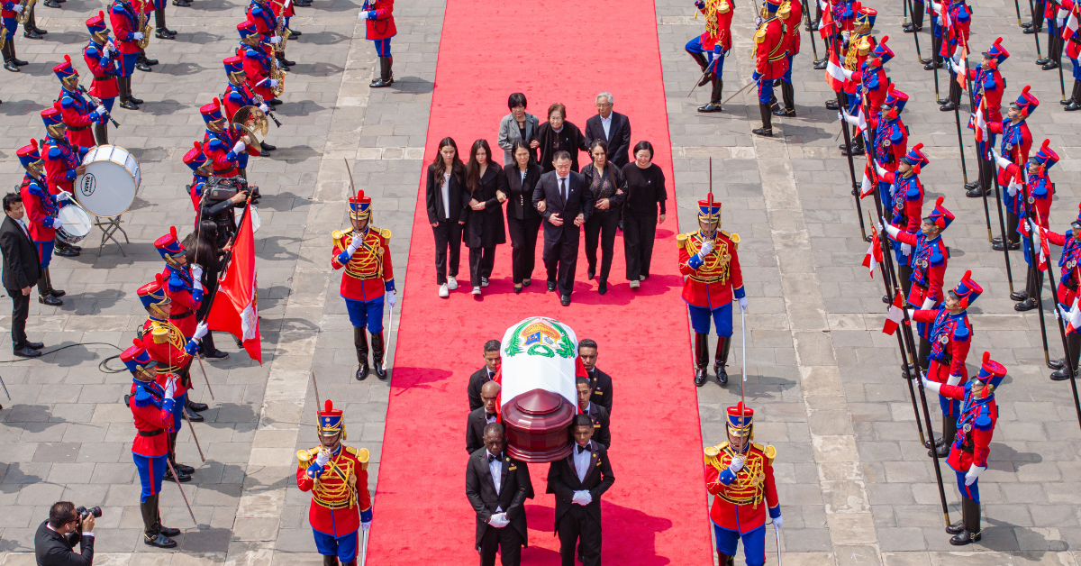
[[(368, 450), (343, 445), (322, 468), (316, 482), (309, 468), (315, 465), (319, 447), (296, 453), (296, 487), (311, 491), (308, 522), (311, 528), (341, 537), (360, 528), (360, 514), (372, 509), (368, 491)], [(350, 478), (356, 478), (350, 482)], [(353, 484), (350, 487), (349, 484)]]

